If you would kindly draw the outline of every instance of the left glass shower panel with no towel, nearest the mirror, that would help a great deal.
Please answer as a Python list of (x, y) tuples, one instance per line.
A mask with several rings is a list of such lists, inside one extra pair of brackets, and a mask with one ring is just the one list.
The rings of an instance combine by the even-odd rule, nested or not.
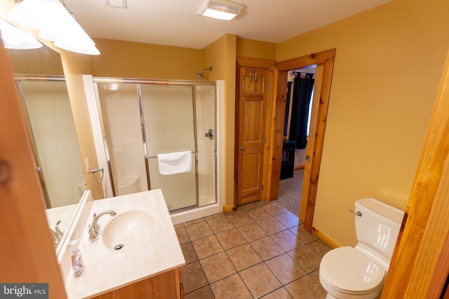
[(135, 83), (98, 83), (114, 195), (148, 190)]

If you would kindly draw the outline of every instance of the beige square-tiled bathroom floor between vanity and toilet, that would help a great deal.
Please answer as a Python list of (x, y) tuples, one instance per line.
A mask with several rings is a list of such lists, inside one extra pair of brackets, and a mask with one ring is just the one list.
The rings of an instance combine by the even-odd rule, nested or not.
[(330, 247), (276, 202), (175, 225), (185, 298), (325, 298), (321, 257)]

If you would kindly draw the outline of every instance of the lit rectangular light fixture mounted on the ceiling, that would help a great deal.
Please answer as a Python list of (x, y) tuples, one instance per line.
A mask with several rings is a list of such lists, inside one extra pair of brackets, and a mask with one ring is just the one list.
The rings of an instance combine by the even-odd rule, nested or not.
[(229, 0), (207, 0), (201, 6), (198, 14), (219, 20), (232, 20), (245, 6)]

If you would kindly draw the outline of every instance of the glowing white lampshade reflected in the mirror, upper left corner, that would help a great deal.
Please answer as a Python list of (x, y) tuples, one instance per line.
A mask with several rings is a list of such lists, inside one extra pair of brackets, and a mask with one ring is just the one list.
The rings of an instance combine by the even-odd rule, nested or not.
[(0, 35), (6, 49), (37, 49), (42, 43), (0, 18)]

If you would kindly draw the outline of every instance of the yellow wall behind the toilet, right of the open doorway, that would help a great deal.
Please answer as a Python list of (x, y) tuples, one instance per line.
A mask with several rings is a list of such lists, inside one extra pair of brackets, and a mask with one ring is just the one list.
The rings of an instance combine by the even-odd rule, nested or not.
[(276, 60), (336, 48), (313, 225), (356, 244), (348, 209), (405, 209), (449, 47), (449, 1), (397, 0), (279, 43)]

